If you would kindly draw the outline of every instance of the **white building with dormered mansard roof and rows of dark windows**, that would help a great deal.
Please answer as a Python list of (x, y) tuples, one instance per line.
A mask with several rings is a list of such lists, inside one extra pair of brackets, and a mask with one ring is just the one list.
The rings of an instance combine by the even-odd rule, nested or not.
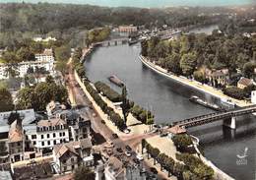
[(69, 142), (68, 125), (62, 119), (40, 120), (36, 126), (27, 129), (26, 135), (32, 146), (40, 150)]

